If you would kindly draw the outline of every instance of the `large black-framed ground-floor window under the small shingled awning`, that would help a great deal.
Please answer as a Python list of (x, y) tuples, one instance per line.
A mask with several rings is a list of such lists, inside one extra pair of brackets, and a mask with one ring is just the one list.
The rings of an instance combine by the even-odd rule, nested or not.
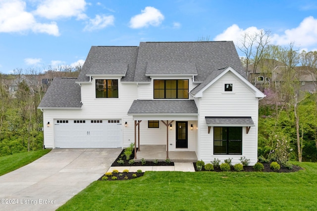
[(213, 127), (214, 155), (242, 155), (242, 127)]

